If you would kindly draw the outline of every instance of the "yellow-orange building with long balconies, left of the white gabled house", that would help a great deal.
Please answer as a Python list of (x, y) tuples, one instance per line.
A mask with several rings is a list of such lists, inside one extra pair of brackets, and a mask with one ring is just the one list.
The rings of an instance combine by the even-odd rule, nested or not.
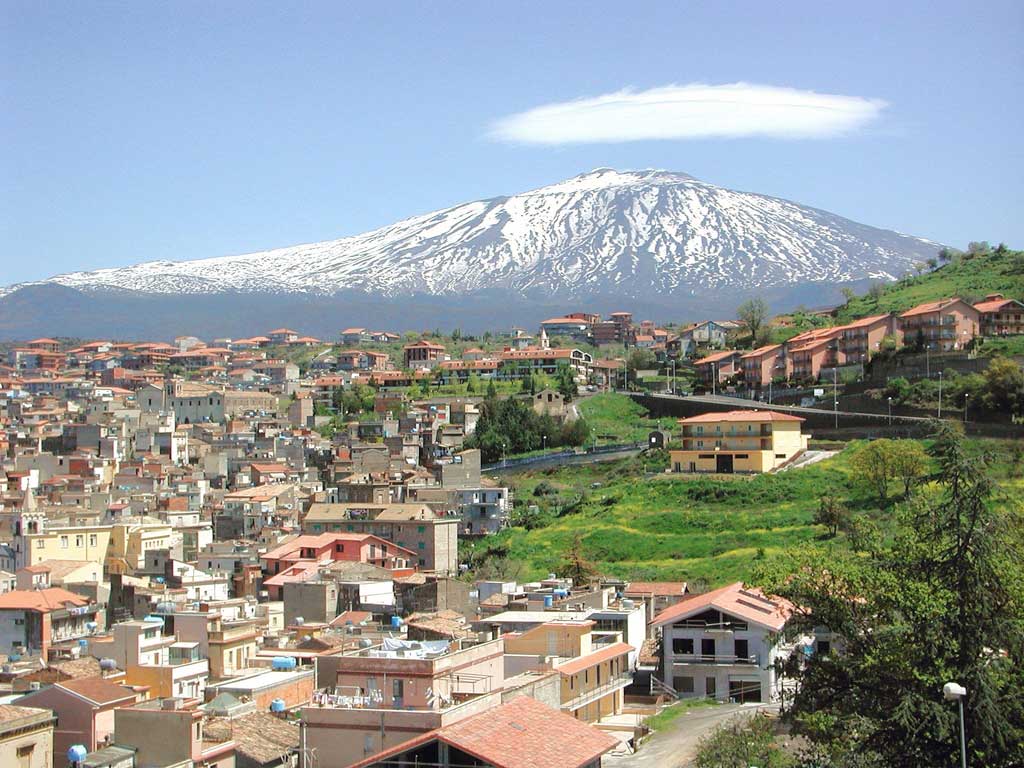
[(556, 620), (521, 635), (505, 638), (506, 656), (532, 656), (561, 677), (561, 711), (596, 723), (623, 710), (623, 690), (633, 681), (633, 646), (622, 635), (595, 642), (591, 620)]

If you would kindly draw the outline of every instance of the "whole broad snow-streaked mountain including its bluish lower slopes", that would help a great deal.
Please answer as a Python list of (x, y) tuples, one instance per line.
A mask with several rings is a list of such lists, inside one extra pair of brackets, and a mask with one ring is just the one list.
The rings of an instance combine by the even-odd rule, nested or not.
[[(657, 310), (666, 319), (685, 319), (708, 307), (727, 313), (752, 295), (780, 307), (812, 295), (808, 303), (819, 305), (838, 299), (843, 286), (893, 280), (938, 248), (685, 173), (598, 168), (332, 241), (10, 286), (0, 292), (0, 333), (29, 333), (54, 321), (53, 313), (37, 312), (31, 322), (14, 314), (15, 306), (31, 307), (32, 296), (46, 286), (75, 291), (68, 301), (80, 311), (68, 318), (88, 319), (99, 330), (106, 326), (86, 313), (123, 317), (131, 305), (148, 324), (161, 307), (160, 313), (181, 322), (180, 309), (167, 308), (175, 302), (202, 315), (204, 328), (224, 328), (228, 318), (210, 309), (215, 297), (246, 316), (278, 307), (274, 316), (297, 326), (303, 316), (296, 312), (308, 311), (310, 302), (324, 315), (321, 326), (329, 317), (361, 325), (429, 321), (421, 310), (430, 309), (437, 316), (426, 327), (476, 327), (488, 302), (496, 322), (532, 323), (536, 314), (567, 305)], [(446, 300), (439, 310), (438, 300)], [(356, 306), (364, 316), (352, 316)], [(123, 327), (124, 321), (111, 326)]]

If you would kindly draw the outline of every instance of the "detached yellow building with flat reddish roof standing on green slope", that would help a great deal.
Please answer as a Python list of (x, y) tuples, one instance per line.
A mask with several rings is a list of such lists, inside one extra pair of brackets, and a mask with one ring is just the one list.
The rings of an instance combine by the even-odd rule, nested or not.
[(680, 419), (673, 472), (770, 472), (807, 450), (803, 419), (775, 411), (728, 411)]

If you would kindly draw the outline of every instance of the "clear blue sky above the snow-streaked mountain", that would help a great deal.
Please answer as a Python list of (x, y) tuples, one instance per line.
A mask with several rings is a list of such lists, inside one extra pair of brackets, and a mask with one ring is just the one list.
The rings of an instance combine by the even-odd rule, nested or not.
[[(1019, 0), (11, 1), (0, 283), (328, 240), (603, 166), (1024, 247), (1022, 40)], [(652, 138), (636, 126), (675, 118), (627, 112), (573, 137), (595, 127), (578, 99), (735, 83), (854, 114)], [(530, 111), (562, 102), (538, 140)]]

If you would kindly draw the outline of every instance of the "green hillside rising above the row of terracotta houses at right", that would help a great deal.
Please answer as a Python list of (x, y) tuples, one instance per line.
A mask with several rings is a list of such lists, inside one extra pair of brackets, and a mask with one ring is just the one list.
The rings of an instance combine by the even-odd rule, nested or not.
[(937, 259), (931, 271), (891, 285), (879, 284), (865, 295), (850, 299), (839, 309), (838, 321), (849, 323), (871, 314), (903, 311), (949, 296), (977, 301), (989, 293), (1024, 299), (1024, 251), (979, 247), (969, 253), (951, 254), (946, 263)]

